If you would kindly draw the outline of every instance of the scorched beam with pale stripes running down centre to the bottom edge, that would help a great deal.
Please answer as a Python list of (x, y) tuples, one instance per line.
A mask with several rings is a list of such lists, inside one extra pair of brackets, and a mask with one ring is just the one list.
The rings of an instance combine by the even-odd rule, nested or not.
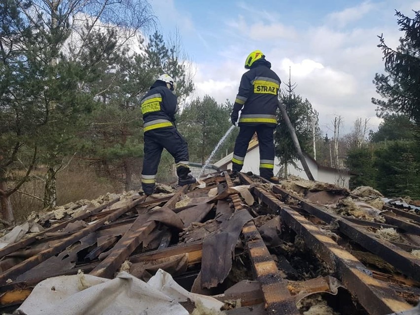
[[(224, 175), (228, 187), (233, 187), (234, 185), (229, 174), (224, 172)], [(238, 194), (230, 197), (235, 210), (243, 209), (242, 201)], [(287, 282), (280, 277), (280, 271), (253, 221), (249, 221), (242, 228), (242, 238), (251, 259), (256, 280), (261, 284), (267, 314), (299, 314), (296, 304), (287, 289)]]

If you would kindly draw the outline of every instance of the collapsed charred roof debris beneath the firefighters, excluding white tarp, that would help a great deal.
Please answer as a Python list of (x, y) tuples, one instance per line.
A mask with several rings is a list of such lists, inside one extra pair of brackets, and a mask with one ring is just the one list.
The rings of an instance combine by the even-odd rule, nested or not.
[(162, 185), (148, 197), (108, 194), (33, 213), (4, 233), (0, 311), (30, 315), (22, 307), (38, 283), (77, 274), (82, 283), (167, 275), (188, 294), (220, 302), (211, 313), (188, 295), (177, 300), (186, 314), (412, 310), (420, 296), (418, 211), (370, 187), (350, 192), (299, 179), (273, 185), (228, 172), (182, 190)]

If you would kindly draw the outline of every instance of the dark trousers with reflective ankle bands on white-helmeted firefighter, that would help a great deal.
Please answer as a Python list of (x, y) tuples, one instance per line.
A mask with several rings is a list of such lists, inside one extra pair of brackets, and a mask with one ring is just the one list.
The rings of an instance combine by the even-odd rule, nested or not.
[(184, 177), (190, 172), (188, 144), (175, 127), (146, 131), (141, 186), (147, 195), (153, 193), (163, 149), (174, 157), (176, 173), (179, 177)]

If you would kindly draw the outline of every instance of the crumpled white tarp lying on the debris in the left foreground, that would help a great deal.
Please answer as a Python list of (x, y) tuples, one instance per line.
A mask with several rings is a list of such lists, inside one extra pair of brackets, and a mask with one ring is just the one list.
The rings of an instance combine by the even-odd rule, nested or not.
[(186, 291), (159, 269), (147, 283), (126, 273), (109, 280), (90, 275), (60, 276), (39, 282), (18, 309), (25, 315), (188, 315), (187, 299), (215, 314), (223, 303)]

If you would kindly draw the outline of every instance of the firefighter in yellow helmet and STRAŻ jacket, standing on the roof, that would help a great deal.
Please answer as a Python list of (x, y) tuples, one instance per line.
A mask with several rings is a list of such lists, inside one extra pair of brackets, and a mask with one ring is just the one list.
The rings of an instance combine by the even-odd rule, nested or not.
[(249, 71), (242, 75), (231, 114), (232, 124), (240, 127), (233, 152), (232, 169), (234, 172), (242, 170), (248, 143), (256, 132), (260, 151), (260, 175), (278, 183), (279, 179), (273, 174), (274, 130), (277, 125), (277, 95), (281, 81), (260, 50), (255, 50), (246, 57), (245, 69)]

